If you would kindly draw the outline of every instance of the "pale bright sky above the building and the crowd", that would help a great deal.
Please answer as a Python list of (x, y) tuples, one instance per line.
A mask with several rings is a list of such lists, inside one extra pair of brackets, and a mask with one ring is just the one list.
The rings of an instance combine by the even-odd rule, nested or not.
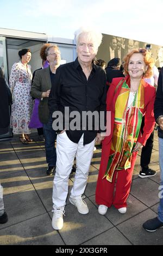
[(80, 26), (163, 45), (162, 0), (1, 0), (1, 28), (73, 39)]

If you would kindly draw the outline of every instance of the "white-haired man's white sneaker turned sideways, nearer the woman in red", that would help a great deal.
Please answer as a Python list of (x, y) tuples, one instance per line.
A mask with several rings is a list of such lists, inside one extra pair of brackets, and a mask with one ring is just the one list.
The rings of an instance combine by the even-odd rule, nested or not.
[(80, 214), (88, 214), (89, 213), (87, 204), (83, 200), (84, 198), (85, 198), (85, 196), (69, 198), (70, 203), (76, 206), (76, 208), (78, 209), (78, 212), (80, 212)]

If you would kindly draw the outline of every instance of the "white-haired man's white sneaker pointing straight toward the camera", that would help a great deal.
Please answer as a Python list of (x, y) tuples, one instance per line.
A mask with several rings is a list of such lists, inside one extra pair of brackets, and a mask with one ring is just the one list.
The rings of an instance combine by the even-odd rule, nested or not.
[(65, 216), (64, 208), (65, 207), (63, 206), (60, 208), (54, 208), (54, 210), (52, 210), (52, 212), (53, 212), (52, 227), (55, 230), (62, 229), (62, 227), (64, 225), (64, 220), (63, 220), (63, 215)]

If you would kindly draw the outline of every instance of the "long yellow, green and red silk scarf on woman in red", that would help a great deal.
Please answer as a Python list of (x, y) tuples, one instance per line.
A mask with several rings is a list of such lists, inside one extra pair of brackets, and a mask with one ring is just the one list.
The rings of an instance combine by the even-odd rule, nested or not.
[[(133, 104), (127, 111), (130, 81), (124, 81), (115, 104), (115, 123), (110, 156), (105, 171), (106, 180), (112, 182), (112, 176), (116, 170), (128, 169), (131, 167), (132, 150), (135, 147), (139, 136), (143, 108), (144, 108), (144, 81), (135, 94)], [(128, 112), (128, 118), (126, 114)], [(127, 119), (127, 120), (126, 120)]]

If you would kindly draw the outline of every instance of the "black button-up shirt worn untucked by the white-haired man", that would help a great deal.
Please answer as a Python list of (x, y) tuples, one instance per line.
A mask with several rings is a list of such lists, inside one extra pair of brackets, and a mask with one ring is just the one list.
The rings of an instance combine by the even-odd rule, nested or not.
[[(49, 111), (61, 111), (64, 115), (65, 107), (70, 112), (104, 111), (106, 112), (106, 75), (105, 71), (92, 63), (92, 71), (88, 78), (82, 70), (78, 59), (74, 62), (59, 66), (52, 84), (48, 99)], [(70, 119), (71, 121), (71, 119)], [(99, 132), (101, 132), (99, 130)], [(97, 131), (66, 130), (68, 138), (78, 143), (84, 133), (84, 144), (88, 144), (96, 137)]]

